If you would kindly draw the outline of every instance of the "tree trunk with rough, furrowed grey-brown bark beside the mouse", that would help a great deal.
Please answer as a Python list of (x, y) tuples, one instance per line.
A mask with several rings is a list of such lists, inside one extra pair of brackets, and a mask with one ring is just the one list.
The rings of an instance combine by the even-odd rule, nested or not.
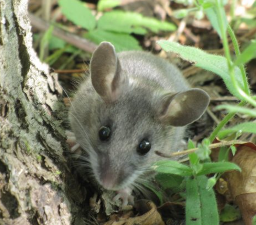
[(0, 0), (0, 225), (83, 224), (85, 193), (63, 156), (61, 89), (32, 49), (27, 3)]

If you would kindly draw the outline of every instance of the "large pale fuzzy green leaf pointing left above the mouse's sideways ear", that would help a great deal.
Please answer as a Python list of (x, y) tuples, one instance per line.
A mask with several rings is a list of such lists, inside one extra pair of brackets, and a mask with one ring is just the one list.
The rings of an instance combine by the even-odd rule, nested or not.
[[(219, 75), (228, 90), (232, 95), (240, 97), (239, 93), (235, 89), (230, 74), (228, 72), (227, 59), (219, 55), (208, 54), (201, 49), (195, 47), (184, 46), (171, 41), (158, 41), (157, 42), (165, 51), (171, 51), (179, 54), (182, 59), (185, 59), (195, 66), (209, 70)], [(238, 67), (235, 67), (235, 78), (239, 85), (243, 86), (242, 74)]]

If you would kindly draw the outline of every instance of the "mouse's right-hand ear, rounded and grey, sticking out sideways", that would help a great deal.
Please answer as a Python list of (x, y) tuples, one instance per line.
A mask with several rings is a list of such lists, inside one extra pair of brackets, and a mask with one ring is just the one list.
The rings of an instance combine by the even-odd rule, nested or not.
[(168, 93), (160, 101), (160, 119), (171, 126), (185, 126), (199, 119), (209, 102), (209, 95), (198, 88), (176, 94)]

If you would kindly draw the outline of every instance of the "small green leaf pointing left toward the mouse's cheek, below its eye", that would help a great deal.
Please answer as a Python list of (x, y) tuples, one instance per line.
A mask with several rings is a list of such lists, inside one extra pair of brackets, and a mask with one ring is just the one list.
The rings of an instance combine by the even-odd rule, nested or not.
[(179, 176), (192, 175), (192, 169), (189, 166), (173, 160), (158, 161), (154, 163), (152, 169), (156, 170), (158, 173), (170, 173)]

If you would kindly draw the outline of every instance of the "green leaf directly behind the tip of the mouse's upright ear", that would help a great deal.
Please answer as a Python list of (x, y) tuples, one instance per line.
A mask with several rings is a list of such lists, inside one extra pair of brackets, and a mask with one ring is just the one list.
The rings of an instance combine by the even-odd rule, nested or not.
[(142, 50), (136, 38), (124, 33), (114, 33), (105, 30), (92, 30), (85, 34), (89, 40), (100, 44), (102, 41), (109, 41), (115, 46), (117, 52), (129, 50)]

